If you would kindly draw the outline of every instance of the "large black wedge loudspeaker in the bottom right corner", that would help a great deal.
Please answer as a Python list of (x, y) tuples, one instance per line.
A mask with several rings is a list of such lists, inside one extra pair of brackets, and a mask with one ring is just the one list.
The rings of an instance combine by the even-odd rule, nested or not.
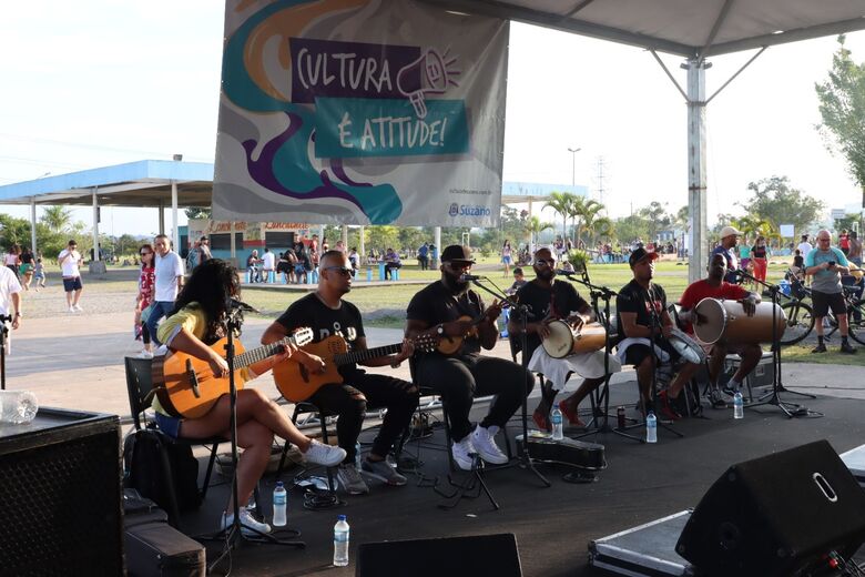
[[(826, 441), (733, 465), (682, 529), (703, 575), (797, 575), (865, 540), (865, 493)], [(825, 566), (825, 565), (824, 565)]]

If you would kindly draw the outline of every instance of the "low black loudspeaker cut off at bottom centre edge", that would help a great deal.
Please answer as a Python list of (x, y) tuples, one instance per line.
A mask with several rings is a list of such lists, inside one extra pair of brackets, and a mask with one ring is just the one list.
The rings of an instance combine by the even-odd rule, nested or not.
[(442, 577), (495, 575), (521, 577), (512, 533), (364, 543), (357, 549), (356, 577)]

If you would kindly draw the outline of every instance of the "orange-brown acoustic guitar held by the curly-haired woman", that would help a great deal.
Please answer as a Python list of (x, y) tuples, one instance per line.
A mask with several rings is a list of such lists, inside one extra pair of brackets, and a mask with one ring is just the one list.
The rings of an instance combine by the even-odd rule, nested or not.
[[(223, 358), (227, 337), (211, 345)], [(234, 384), (243, 388), (241, 368), (264, 361), (281, 353), (288, 343), (303, 346), (313, 341), (312, 328), (301, 328), (282, 341), (244, 351), (240, 341), (234, 341)], [(281, 363), (284, 364), (284, 363)], [(197, 356), (172, 351), (164, 356), (153, 357), (152, 376), (156, 398), (162, 407), (175, 417), (197, 418), (213, 407), (218, 398), (228, 393), (228, 376), (217, 377), (211, 365)]]

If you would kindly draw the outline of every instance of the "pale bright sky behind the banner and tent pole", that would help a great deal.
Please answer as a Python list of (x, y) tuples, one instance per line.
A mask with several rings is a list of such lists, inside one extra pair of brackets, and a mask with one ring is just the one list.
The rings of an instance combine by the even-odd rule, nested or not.
[[(6, 6), (0, 184), (174, 153), (212, 162), (222, 33), (223, 4), (212, 0)], [(652, 200), (671, 211), (686, 203), (685, 104), (650, 53), (521, 24), (510, 44), (505, 180), (570, 184), (576, 161), (577, 183), (594, 191), (602, 159), (613, 216)], [(865, 32), (847, 47), (865, 61)], [(749, 182), (774, 174), (828, 207), (859, 202), (814, 130), (814, 83), (836, 48), (834, 37), (770, 48), (710, 103), (710, 222), (736, 212)], [(752, 54), (711, 59), (708, 92)], [(684, 84), (680, 59), (663, 59)], [(77, 217), (89, 224), (90, 210)], [(156, 212), (106, 209), (101, 226), (149, 234)]]

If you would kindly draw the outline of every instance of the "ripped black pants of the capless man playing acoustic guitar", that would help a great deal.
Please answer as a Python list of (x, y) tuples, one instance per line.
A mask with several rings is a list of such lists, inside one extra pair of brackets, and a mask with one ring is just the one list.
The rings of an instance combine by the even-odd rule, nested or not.
[[(343, 384), (324, 385), (309, 402), (329, 415), (338, 415), (336, 437), (346, 452), (343, 463), (355, 462), (355, 444), (364, 424), (366, 406), (386, 407), (387, 413), (373, 442), (373, 453), (386, 456), (394, 443), (411, 421), (418, 403), (418, 393), (409, 393), (414, 385), (386, 375), (373, 375), (358, 371)], [(350, 382), (350, 384), (348, 384)], [(366, 401), (355, 398), (362, 392)]]

